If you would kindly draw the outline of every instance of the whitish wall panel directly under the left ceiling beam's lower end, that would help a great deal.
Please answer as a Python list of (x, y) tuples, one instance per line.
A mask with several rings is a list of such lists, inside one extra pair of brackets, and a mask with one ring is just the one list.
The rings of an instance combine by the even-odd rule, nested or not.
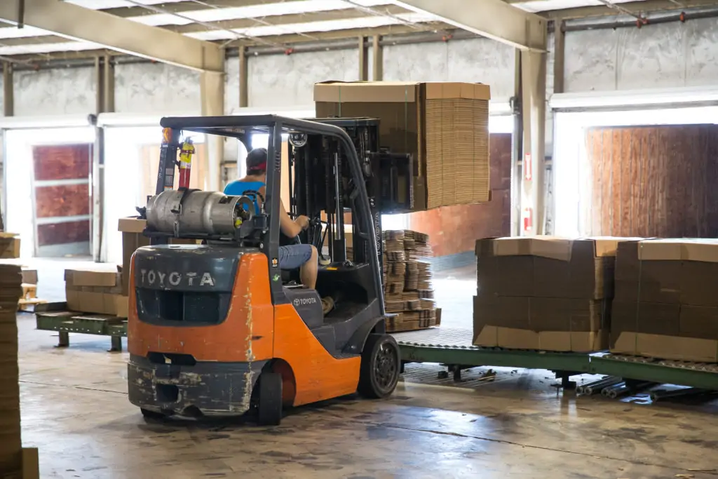
[(199, 114), (200, 73), (164, 63), (116, 65), (115, 110)]

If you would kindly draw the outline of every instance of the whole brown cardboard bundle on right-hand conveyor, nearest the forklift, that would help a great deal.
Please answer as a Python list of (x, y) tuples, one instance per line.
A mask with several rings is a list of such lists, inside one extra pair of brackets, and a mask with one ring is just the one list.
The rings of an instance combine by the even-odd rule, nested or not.
[(545, 236), (477, 241), (474, 344), (606, 349), (617, 243)]

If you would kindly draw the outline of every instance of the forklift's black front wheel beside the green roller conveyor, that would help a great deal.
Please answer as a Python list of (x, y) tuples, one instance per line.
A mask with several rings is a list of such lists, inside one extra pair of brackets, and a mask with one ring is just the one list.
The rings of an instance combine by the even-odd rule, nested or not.
[(399, 368), (396, 340), (390, 335), (370, 334), (361, 353), (359, 394), (370, 399), (386, 398), (396, 388)]

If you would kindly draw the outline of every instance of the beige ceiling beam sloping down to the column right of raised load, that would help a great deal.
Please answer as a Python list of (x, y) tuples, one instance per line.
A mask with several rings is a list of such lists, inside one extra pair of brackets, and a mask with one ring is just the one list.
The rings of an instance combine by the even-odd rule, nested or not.
[(442, 22), (521, 50), (546, 51), (546, 19), (503, 0), (394, 0), (393, 3), (433, 14)]

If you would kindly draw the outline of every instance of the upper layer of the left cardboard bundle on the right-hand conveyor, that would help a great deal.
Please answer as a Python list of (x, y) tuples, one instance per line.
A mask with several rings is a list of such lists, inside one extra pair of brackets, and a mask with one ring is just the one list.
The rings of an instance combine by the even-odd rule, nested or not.
[(552, 236), (476, 242), (482, 297), (602, 299), (613, 296), (618, 238)]

